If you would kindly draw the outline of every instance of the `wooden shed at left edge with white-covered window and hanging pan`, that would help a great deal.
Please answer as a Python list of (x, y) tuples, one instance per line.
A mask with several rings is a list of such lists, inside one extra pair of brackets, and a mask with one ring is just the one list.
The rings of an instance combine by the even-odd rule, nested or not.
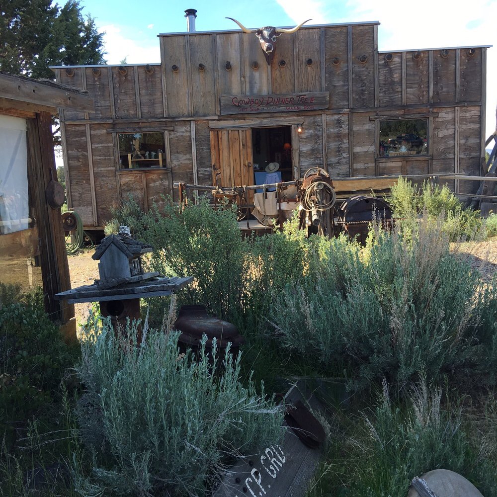
[(54, 300), (71, 288), (54, 195), (51, 118), (57, 108), (91, 111), (93, 103), (79, 89), (0, 72), (0, 282), (20, 284), (23, 291), (42, 286), (47, 313), (66, 323), (74, 307)]

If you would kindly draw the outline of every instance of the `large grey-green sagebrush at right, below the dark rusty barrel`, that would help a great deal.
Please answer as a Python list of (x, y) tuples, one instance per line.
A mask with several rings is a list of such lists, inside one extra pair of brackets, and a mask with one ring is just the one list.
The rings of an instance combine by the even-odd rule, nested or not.
[[(401, 391), (422, 372), (487, 376), (493, 338), (475, 303), (478, 275), (450, 254), (439, 225), (422, 222), (414, 237), (376, 230), (362, 252), (338, 239), (323, 267), (274, 298), (285, 345), (343, 365), (354, 389), (385, 376)], [(486, 305), (496, 301), (489, 288)]]

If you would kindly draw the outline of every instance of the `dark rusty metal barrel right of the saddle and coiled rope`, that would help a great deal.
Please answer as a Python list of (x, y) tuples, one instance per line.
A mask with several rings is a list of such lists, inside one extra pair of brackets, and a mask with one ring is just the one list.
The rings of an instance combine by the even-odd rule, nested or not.
[(392, 219), (392, 211), (385, 200), (365, 195), (349, 197), (341, 204), (337, 214), (338, 225), (350, 239), (357, 238), (361, 245), (366, 244), (369, 223), (376, 219), (388, 228)]

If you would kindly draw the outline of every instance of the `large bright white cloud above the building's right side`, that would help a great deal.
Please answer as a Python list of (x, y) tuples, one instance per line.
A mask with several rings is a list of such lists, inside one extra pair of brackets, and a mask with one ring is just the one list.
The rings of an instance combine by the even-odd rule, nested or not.
[[(452, 0), (277, 0), (295, 22), (312, 17), (312, 24), (380, 22), (381, 51), (492, 45), (495, 39), (496, 0), (472, 0), (463, 7)], [(406, 5), (406, 6), (404, 6)], [(486, 136), (496, 129), (497, 47), (487, 50)]]

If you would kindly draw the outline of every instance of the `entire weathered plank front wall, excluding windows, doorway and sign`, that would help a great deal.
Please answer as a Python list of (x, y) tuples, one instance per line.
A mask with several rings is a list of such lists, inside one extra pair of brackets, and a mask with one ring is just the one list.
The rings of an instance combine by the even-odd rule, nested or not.
[[(213, 122), (261, 127), (278, 118), (220, 116), (221, 95), (329, 92), (328, 109), (287, 114), (304, 125), (293, 135), (300, 173), (311, 166), (342, 177), (480, 172), (486, 47), (379, 53), (377, 23), (282, 34), (270, 66), (256, 36), (239, 30), (160, 35), (159, 43), (160, 65), (56, 70), (59, 82), (95, 99), (95, 113), (62, 116), (69, 195), (85, 226), (102, 226), (116, 195), (145, 195), (147, 208), (160, 193), (172, 193), (172, 181), (210, 182)], [(428, 155), (380, 158), (381, 121), (416, 115), (428, 120)], [(164, 129), (170, 174), (119, 171), (117, 128)], [(468, 182), (459, 187), (474, 189)]]

